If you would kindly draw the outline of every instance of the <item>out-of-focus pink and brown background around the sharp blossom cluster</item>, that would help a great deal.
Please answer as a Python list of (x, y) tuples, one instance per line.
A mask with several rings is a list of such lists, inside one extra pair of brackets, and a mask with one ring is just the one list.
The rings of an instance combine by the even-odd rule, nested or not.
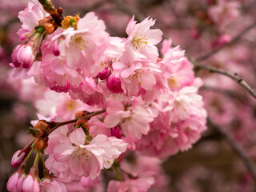
[[(256, 1), (252, 0), (53, 0), (64, 15), (95, 11), (105, 21), (112, 36), (126, 37), (126, 25), (132, 15), (138, 22), (150, 16), (154, 28), (164, 38), (186, 50), (186, 55), (203, 65), (230, 70), (256, 89)], [(9, 78), (10, 55), (20, 43), (16, 34), (21, 27), (18, 11), (25, 0), (0, 0), (0, 190), (14, 169), (10, 159), (14, 152), (30, 142), (26, 129), (36, 119), (34, 95), (40, 91), (29, 83)], [(248, 33), (237, 36), (248, 26)], [(247, 32), (247, 31), (246, 31)], [(209, 58), (213, 50), (233, 38), (238, 41), (223, 47)], [(161, 46), (161, 45), (160, 45)], [(159, 46), (159, 47), (160, 47)], [(234, 80), (207, 70), (195, 69), (204, 85), (200, 89), (209, 118), (218, 128), (234, 138), (248, 157), (256, 162), (255, 100)], [(22, 89), (21, 89), (22, 87)], [(27, 95), (27, 93), (33, 93)], [(250, 192), (256, 182), (242, 158), (236, 154), (225, 136), (214, 126), (188, 151), (179, 152), (162, 162), (168, 175), (168, 190), (174, 192)]]

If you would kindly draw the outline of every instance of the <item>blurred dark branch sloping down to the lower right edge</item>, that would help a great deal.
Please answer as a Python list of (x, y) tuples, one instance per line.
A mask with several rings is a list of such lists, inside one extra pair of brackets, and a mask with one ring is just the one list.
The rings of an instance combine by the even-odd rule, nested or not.
[(246, 154), (246, 151), (238, 144), (237, 141), (232, 138), (232, 136), (224, 130), (221, 126), (218, 126), (210, 118), (207, 119), (208, 126), (214, 128), (214, 130), (217, 130), (218, 133), (222, 134), (224, 138), (226, 139), (226, 142), (228, 142), (231, 146), (231, 148), (234, 150), (236, 154), (242, 159), (242, 162), (246, 165), (247, 169), (250, 171), (250, 174), (253, 176), (254, 181), (256, 182), (256, 168), (254, 166), (254, 162), (248, 157)]

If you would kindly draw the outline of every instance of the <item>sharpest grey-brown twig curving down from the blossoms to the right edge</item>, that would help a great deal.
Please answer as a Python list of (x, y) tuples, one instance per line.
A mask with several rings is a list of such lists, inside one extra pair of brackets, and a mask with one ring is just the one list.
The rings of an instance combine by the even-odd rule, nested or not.
[(201, 69), (209, 70), (211, 73), (223, 74), (223, 75), (225, 75), (229, 78), (232, 78), (234, 81), (238, 82), (238, 84), (240, 86), (242, 86), (245, 90), (247, 90), (253, 98), (256, 98), (255, 91), (248, 85), (248, 83), (245, 80), (243, 80), (241, 77), (239, 77), (238, 74), (231, 73), (228, 70), (222, 70), (222, 69), (216, 68), (214, 66), (202, 65), (202, 64), (199, 64), (198, 62), (193, 61), (193, 60), (191, 60), (191, 62), (194, 63), (195, 68), (201, 68)]

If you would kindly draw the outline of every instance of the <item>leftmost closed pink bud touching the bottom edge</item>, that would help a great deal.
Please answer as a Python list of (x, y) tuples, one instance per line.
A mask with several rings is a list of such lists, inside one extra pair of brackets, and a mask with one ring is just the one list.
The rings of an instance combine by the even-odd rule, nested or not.
[(25, 174), (21, 174), (19, 177), (19, 172), (16, 171), (13, 175), (10, 176), (7, 182), (7, 190), (12, 191), (22, 191), (22, 184), (26, 178)]

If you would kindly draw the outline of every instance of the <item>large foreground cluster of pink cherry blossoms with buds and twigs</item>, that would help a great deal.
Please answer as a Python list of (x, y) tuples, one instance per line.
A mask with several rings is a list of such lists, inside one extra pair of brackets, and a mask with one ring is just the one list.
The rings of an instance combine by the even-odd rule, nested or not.
[[(160, 159), (190, 149), (206, 130), (202, 81), (185, 51), (162, 41), (150, 17), (138, 23), (133, 16), (127, 38), (118, 38), (94, 12), (64, 17), (61, 8), (39, 2), (30, 0), (18, 14), (22, 43), (10, 66), (24, 87), (37, 83), (23, 97), (42, 93), (33, 101), (40, 120), (29, 129), (30, 145), (14, 154), (12, 166), (19, 168), (7, 189), (100, 191), (103, 169), (116, 176), (109, 192), (165, 186)], [(26, 174), (33, 150), (37, 156)]]

